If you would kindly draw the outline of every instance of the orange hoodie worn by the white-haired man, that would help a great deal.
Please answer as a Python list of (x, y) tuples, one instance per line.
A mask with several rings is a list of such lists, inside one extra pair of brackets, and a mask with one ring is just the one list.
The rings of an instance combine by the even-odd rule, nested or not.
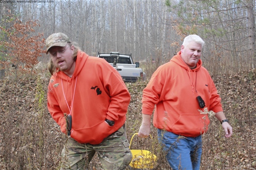
[[(143, 90), (142, 113), (152, 114), (156, 128), (186, 137), (196, 137), (207, 131), (208, 115), (200, 114), (197, 96), (205, 107), (214, 112), (223, 111), (221, 98), (208, 71), (200, 59), (190, 69), (178, 52), (170, 62), (161, 65)], [(204, 109), (201, 109), (202, 111)]]

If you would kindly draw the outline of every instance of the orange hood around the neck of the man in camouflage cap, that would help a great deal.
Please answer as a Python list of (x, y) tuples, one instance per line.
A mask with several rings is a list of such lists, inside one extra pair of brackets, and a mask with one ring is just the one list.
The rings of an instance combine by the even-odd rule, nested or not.
[[(88, 54), (82, 53), (80, 50), (78, 50), (78, 52), (77, 52), (77, 58), (76, 58), (76, 66), (75, 66), (75, 70), (74, 70), (74, 73), (73, 73), (73, 76), (72, 76), (71, 79), (76, 78), (76, 77), (79, 75), (79, 73), (80, 73), (80, 71), (81, 71), (83, 65), (86, 63), (88, 57), (89, 57)], [(67, 78), (69, 78), (69, 76), (66, 75), (66, 74), (65, 74), (64, 72), (62, 72), (62, 71), (56, 72), (55, 76), (60, 77), (61, 79), (65, 79), (65, 80), (66, 80)]]

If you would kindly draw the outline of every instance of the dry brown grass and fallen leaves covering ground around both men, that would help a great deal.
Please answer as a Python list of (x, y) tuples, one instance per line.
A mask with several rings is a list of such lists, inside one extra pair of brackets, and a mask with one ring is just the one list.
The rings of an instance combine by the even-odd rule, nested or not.
[[(147, 67), (151, 72), (155, 68)], [(256, 71), (212, 78), (234, 134), (225, 139), (219, 121), (211, 118), (209, 131), (203, 135), (201, 169), (256, 169)], [(48, 81), (49, 75), (44, 72), (0, 80), (0, 169), (59, 169), (66, 136), (47, 110)], [(129, 140), (141, 124), (141, 97), (146, 84), (126, 83), (132, 96), (126, 120)], [(151, 135), (153, 140), (135, 137), (131, 149), (154, 152), (158, 158), (155, 169), (170, 169), (158, 147), (154, 127)], [(91, 169), (100, 169), (97, 158), (91, 162)]]

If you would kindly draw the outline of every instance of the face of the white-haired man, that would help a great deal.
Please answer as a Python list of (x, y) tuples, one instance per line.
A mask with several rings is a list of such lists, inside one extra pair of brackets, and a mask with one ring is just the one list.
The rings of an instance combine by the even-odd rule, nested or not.
[(196, 42), (189, 42), (186, 46), (181, 45), (181, 58), (189, 68), (196, 68), (201, 57), (202, 45)]

